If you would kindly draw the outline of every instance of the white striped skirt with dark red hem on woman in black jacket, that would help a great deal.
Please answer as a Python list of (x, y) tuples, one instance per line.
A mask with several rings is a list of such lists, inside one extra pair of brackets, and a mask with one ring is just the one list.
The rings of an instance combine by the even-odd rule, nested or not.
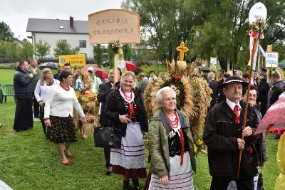
[(146, 178), (145, 146), (139, 123), (128, 123), (120, 149), (111, 149), (110, 151), (110, 164), (113, 165), (112, 172), (114, 174), (123, 174), (128, 178), (133, 178), (133, 176)]

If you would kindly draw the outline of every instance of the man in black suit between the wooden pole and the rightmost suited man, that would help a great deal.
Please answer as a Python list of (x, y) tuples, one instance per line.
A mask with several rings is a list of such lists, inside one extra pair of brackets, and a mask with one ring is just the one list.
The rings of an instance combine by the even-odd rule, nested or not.
[(262, 117), (264, 117), (266, 110), (267, 110), (267, 101), (268, 101), (268, 93), (269, 93), (269, 84), (267, 83), (267, 70), (266, 68), (260, 68), (260, 74), (262, 79), (258, 84), (258, 93), (259, 97), (257, 98), (257, 102), (260, 102), (261, 108), (260, 112)]

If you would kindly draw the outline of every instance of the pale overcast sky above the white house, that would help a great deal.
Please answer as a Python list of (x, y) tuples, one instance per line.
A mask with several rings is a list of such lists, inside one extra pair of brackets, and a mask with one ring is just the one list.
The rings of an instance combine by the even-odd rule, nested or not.
[(120, 9), (123, 0), (0, 0), (0, 22), (7, 23), (15, 37), (26, 37), (28, 18), (88, 21), (88, 14)]

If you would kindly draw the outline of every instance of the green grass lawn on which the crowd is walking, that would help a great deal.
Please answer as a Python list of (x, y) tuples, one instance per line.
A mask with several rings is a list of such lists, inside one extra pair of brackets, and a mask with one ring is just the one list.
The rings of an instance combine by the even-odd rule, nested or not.
[[(13, 84), (14, 70), (0, 70), (0, 84)], [(56, 145), (44, 138), (40, 122), (34, 122), (33, 129), (14, 132), (15, 103), (13, 97), (0, 104), (0, 179), (15, 190), (38, 189), (121, 189), (122, 177), (105, 175), (103, 149), (95, 148), (93, 135), (78, 139), (71, 145), (74, 155), (71, 166), (59, 163)], [(272, 135), (269, 134), (269, 137)], [(267, 139), (267, 162), (263, 169), (264, 188), (274, 189), (279, 169), (276, 166), (278, 141)], [(147, 155), (146, 155), (147, 157)], [(222, 162), (222, 160), (221, 160)], [(147, 164), (147, 169), (150, 164)], [(197, 174), (194, 174), (195, 189), (209, 189), (211, 176), (207, 157), (197, 157)], [(144, 180), (140, 181), (144, 184)]]

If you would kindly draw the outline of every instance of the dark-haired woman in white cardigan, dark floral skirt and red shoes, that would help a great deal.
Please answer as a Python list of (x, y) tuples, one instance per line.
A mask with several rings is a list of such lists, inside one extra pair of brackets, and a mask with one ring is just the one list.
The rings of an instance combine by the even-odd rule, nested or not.
[(61, 82), (48, 90), (48, 97), (44, 107), (44, 123), (47, 127), (51, 127), (47, 138), (57, 144), (61, 156), (60, 162), (64, 165), (71, 164), (66, 157), (73, 158), (73, 154), (69, 152), (69, 147), (71, 142), (77, 141), (76, 126), (72, 117), (73, 107), (81, 116), (83, 122), (86, 122), (81, 105), (76, 98), (76, 93), (70, 87), (72, 80), (71, 73), (63, 70), (59, 75), (59, 81)]

